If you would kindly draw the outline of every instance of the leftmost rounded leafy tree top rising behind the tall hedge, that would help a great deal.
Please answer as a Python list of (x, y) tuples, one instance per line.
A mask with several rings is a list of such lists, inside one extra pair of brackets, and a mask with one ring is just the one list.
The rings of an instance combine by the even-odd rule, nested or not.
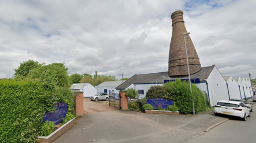
[(22, 75), (23, 77), (25, 77), (31, 70), (38, 68), (42, 65), (44, 65), (44, 63), (38, 64), (38, 62), (34, 60), (28, 60), (26, 62), (23, 61), (23, 63), (20, 63), (18, 69), (14, 69), (14, 77), (17, 77), (18, 75)]

